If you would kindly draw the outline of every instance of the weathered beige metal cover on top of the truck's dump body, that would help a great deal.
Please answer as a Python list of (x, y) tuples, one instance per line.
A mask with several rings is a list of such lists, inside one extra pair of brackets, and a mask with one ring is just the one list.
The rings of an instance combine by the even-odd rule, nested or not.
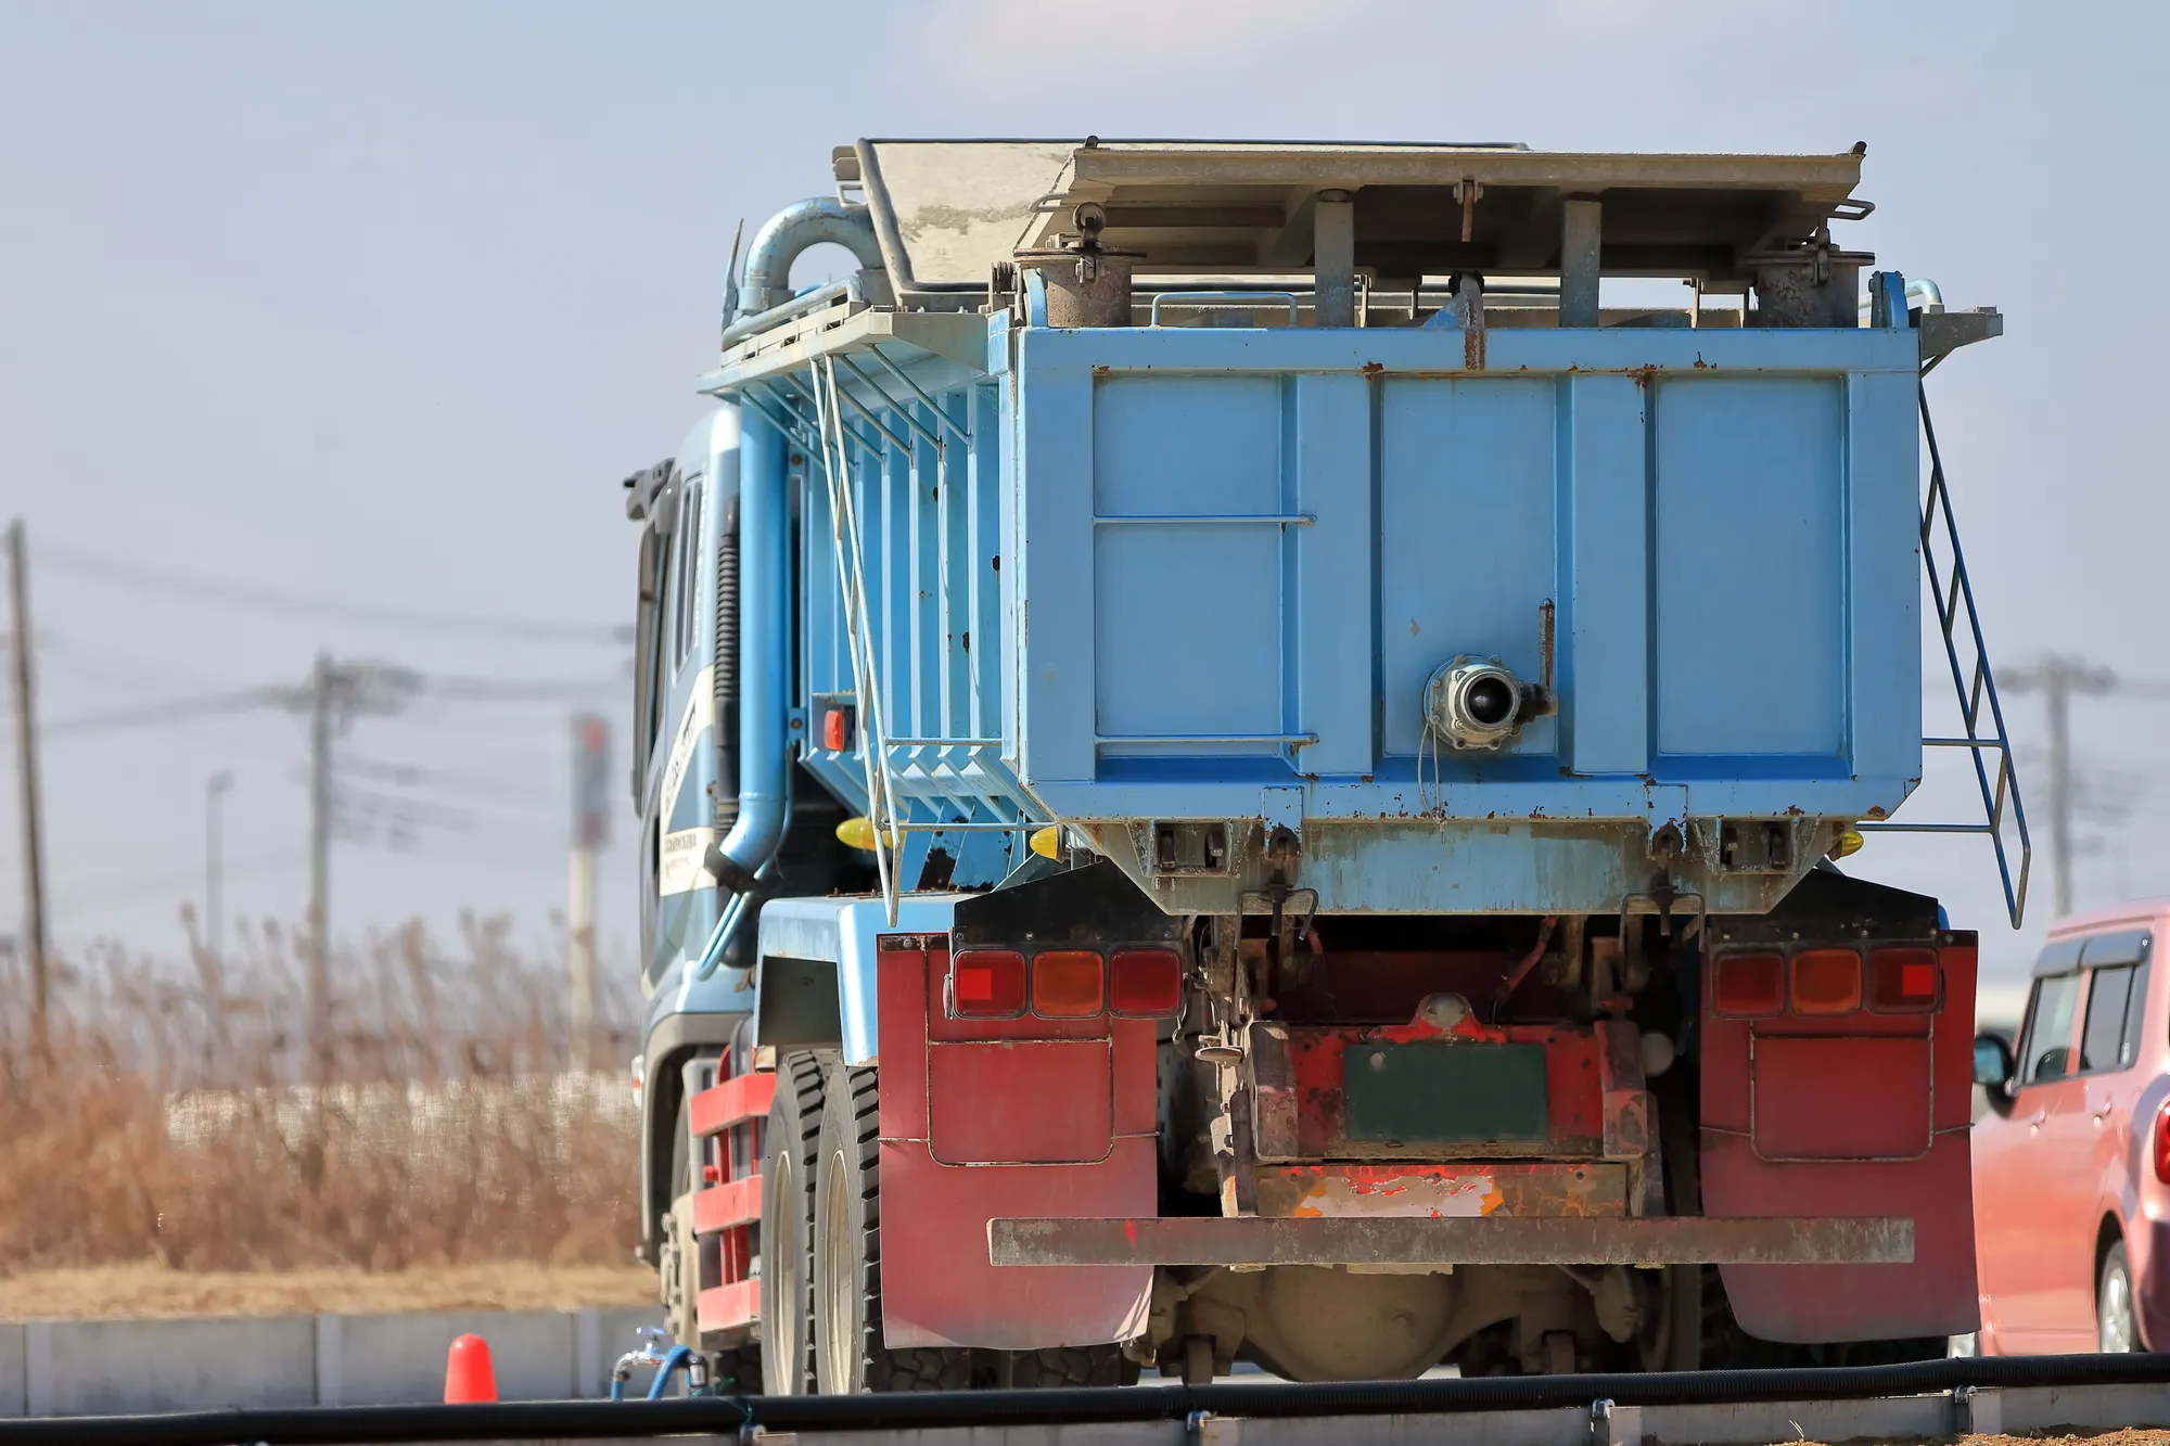
[[(1319, 191), (1356, 195), (1356, 265), (1380, 276), (1543, 274), (1560, 265), (1560, 202), (1604, 202), (1610, 274), (1745, 280), (1760, 252), (1799, 245), (1853, 202), (1858, 150), (1829, 156), (1543, 152), (1521, 145), (1341, 141), (859, 141), (838, 180), (875, 211), (901, 291), (983, 287), (1048, 245), (1078, 202), (1107, 208), (1102, 243), (1144, 271), (1311, 265)], [(1456, 189), (1473, 180), (1465, 204)], [(1467, 239), (1465, 239), (1467, 228)]]

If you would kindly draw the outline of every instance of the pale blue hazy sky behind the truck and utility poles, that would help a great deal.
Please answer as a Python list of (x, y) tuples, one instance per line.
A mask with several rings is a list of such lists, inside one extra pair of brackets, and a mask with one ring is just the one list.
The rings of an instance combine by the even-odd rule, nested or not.
[[(1847, 241), (2007, 315), (1931, 384), (1992, 647), (2170, 677), (2166, 33), (2155, 4), (0, 0), (0, 512), (56, 554), (37, 569), (43, 712), (299, 680), (317, 647), (612, 677), (608, 645), (195, 606), (61, 554), (623, 621), (616, 480), (694, 413), (731, 226), (827, 191), (829, 148), (861, 135), (1868, 141), (1879, 208)], [(2170, 803), (2161, 708), (2079, 706), (2081, 745), (2142, 784), (2081, 903), (2170, 890), (2146, 827)], [(2029, 743), (2038, 712), (2014, 701)], [(430, 797), (475, 823), (414, 855), (341, 849), (336, 923), (475, 908), (540, 938), (564, 892), (564, 734), (534, 706), (362, 723), (358, 756), (462, 775), (471, 792)], [(54, 738), (59, 938), (178, 942), (217, 769), (239, 775), (232, 908), (297, 916), (302, 756), (278, 714)], [(13, 795), (0, 812), (7, 929)], [(1860, 864), (1944, 895), (2016, 973), (1986, 851), (1879, 842)], [(629, 868), (623, 849), (605, 864), (621, 942)]]

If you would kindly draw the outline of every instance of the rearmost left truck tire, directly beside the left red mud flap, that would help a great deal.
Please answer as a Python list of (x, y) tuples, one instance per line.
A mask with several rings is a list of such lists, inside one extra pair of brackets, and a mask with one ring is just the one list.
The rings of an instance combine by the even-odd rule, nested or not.
[(961, 1392), (972, 1353), (881, 1344), (881, 1118), (875, 1070), (829, 1075), (814, 1192), (814, 1379), (825, 1396)]

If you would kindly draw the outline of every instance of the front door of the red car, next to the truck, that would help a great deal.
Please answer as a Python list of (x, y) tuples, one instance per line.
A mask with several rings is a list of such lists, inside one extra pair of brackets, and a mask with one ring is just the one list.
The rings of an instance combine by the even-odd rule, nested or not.
[[(2083, 1350), (2092, 1301), (2072, 1316), (2064, 1242), (2094, 1203), (2088, 1081), (2079, 1077), (2079, 942), (2035, 966), (2009, 1105), (1975, 1125), (1975, 1231), (1983, 1324), (2001, 1355)], [(2092, 1238), (2092, 1235), (2090, 1235)]]

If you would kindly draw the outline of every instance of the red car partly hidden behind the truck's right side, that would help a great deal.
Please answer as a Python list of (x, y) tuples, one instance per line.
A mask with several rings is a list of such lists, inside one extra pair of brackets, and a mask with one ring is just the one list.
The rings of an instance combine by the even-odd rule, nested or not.
[(2170, 1350), (2166, 925), (2170, 901), (2062, 921), (2018, 1051), (1975, 1040), (1981, 1355)]

